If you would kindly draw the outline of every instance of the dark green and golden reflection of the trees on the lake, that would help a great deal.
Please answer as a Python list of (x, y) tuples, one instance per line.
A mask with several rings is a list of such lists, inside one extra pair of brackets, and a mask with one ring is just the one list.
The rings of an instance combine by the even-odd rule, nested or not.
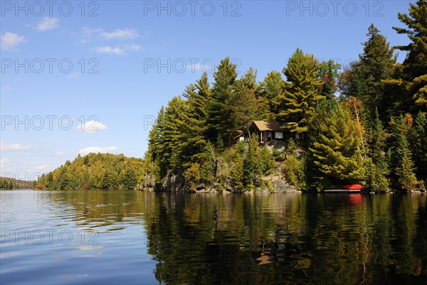
[[(164, 284), (426, 284), (426, 195), (52, 193), (80, 226), (146, 227)], [(117, 228), (119, 227), (120, 228)], [(136, 237), (135, 237), (136, 238)]]

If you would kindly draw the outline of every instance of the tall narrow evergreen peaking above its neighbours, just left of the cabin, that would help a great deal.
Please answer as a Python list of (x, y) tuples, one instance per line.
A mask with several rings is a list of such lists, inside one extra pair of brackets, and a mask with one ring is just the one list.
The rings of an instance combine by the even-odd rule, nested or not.
[(233, 123), (230, 120), (231, 110), (227, 107), (233, 94), (233, 84), (236, 81), (236, 64), (230, 58), (224, 58), (214, 72), (214, 80), (207, 113), (209, 123), (209, 138), (215, 141), (218, 136), (226, 145), (231, 143)]

